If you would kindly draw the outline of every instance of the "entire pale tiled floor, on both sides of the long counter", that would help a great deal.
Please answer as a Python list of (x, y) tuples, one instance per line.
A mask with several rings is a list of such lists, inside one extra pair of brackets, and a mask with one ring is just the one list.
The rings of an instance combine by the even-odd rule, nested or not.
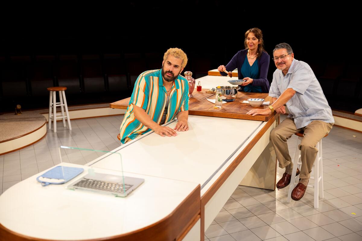
[[(59, 163), (60, 145), (113, 150), (123, 116), (72, 121), (72, 131), (58, 123), (38, 143), (0, 156), (0, 193)], [(356, 137), (353, 137), (355, 135)], [(296, 136), (288, 140), (294, 157)], [(69, 155), (68, 155), (69, 157)], [(313, 188), (302, 200), (286, 202), (287, 188), (265, 190), (239, 186), (205, 232), (210, 241), (362, 240), (362, 133), (333, 127), (323, 139), (324, 198), (313, 207)], [(64, 160), (63, 160), (64, 161)], [(77, 157), (67, 161), (89, 162)], [(284, 170), (278, 168), (277, 180)]]

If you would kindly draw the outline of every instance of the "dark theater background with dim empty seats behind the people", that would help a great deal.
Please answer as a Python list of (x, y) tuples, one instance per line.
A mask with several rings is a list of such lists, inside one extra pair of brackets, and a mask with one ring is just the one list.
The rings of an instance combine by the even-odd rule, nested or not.
[[(312, 3), (195, 1), (8, 9), (0, 39), (0, 113), (46, 109), (47, 87), (66, 86), (68, 105), (129, 97), (137, 76), (161, 68), (163, 53), (182, 48), (195, 79), (226, 65), (244, 33), (263, 31), (265, 49), (286, 42), (307, 62), (329, 105), (361, 108), (361, 30), (357, 7)], [(4, 8), (3, 10), (6, 10)], [(275, 70), (270, 61), (268, 80)]]

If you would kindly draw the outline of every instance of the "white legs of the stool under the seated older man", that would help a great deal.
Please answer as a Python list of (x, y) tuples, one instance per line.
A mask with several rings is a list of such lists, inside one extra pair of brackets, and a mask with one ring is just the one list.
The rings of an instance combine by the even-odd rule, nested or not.
[[(300, 166), (302, 166), (302, 162), (300, 161), (300, 150), (298, 145), (303, 139), (303, 132), (295, 133), (298, 136), (298, 140), (296, 141), (296, 150), (293, 162), (293, 171), (292, 177), (296, 175), (296, 168), (298, 167), (300, 170)], [(328, 136), (325, 135), (324, 137)], [(318, 141), (316, 148), (318, 149), (318, 153), (316, 159), (313, 164), (314, 175), (310, 179), (314, 180), (314, 207), (317, 209), (319, 206), (319, 197), (323, 198), (323, 155), (322, 155), (322, 139)], [(316, 178), (317, 177), (317, 178)], [(293, 179), (293, 178), (291, 178)], [(294, 187), (299, 183), (299, 175), (295, 176), (294, 181), (290, 180), (289, 192), (287, 197), (287, 202), (291, 201), (291, 194)], [(309, 185), (309, 183), (308, 183)]]

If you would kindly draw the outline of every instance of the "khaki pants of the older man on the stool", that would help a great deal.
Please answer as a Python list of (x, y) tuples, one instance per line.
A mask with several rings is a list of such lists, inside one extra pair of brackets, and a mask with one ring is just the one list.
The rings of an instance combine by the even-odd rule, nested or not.
[(279, 161), (279, 167), (285, 168), (292, 161), (288, 151), (287, 140), (297, 132), (304, 131), (302, 143), (298, 145), (302, 166), (299, 178), (310, 178), (312, 167), (316, 159), (318, 149), (316, 144), (331, 131), (334, 123), (324, 121), (312, 121), (308, 126), (297, 129), (294, 120), (286, 118), (282, 123), (270, 132), (270, 140), (273, 143), (275, 154)]

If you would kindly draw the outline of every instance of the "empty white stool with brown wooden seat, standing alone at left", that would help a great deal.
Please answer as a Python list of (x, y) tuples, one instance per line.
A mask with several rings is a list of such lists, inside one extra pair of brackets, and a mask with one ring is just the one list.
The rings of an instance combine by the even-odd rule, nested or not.
[[(67, 87), (49, 87), (47, 88), (47, 90), (49, 91), (49, 129), (51, 129), (51, 121), (53, 121), (54, 124), (54, 132), (56, 132), (56, 119), (63, 119), (63, 126), (66, 127), (66, 118), (68, 120), (68, 126), (69, 126), (69, 130), (72, 130), (72, 126), (70, 124), (70, 119), (69, 119), (69, 113), (68, 113), (68, 105), (67, 105), (67, 99), (66, 99), (66, 94), (65, 94), (65, 90), (67, 89)], [(56, 102), (56, 95), (55, 92), (59, 91), (59, 100), (60, 102)], [(63, 98), (64, 98), (64, 103), (63, 103)], [(56, 114), (56, 107), (60, 106), (60, 109), (62, 110), (62, 114)], [(66, 111), (66, 115), (64, 115), (64, 108)], [(52, 112), (53, 109), (53, 112)], [(57, 115), (61, 115), (61, 116), (57, 116)]]

